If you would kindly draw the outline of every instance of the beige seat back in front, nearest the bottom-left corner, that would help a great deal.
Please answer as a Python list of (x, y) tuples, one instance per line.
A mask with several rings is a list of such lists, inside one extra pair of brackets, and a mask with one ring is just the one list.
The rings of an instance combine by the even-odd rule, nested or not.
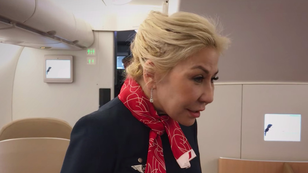
[(69, 142), (59, 138), (0, 141), (0, 172), (59, 173)]

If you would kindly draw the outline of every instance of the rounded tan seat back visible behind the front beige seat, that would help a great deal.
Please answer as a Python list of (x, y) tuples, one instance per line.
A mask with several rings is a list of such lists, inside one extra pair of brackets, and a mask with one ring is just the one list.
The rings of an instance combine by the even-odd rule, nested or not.
[(70, 139), (72, 127), (54, 118), (27, 118), (12, 121), (0, 130), (0, 141), (16, 138), (63, 138)]

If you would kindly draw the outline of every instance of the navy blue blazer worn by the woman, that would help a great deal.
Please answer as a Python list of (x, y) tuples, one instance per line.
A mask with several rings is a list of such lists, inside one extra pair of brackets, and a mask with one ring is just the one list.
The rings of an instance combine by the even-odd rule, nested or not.
[[(197, 157), (182, 169), (174, 158), (168, 136), (161, 135), (167, 173), (201, 173), (197, 121), (182, 131)], [(61, 173), (138, 173), (147, 163), (150, 128), (139, 122), (118, 97), (78, 120)]]

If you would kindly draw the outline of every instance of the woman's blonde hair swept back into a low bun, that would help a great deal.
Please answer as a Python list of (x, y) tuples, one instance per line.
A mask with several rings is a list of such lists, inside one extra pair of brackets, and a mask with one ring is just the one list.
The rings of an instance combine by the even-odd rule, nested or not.
[[(229, 42), (219, 35), (214, 23), (197, 14), (177, 12), (168, 16), (151, 11), (131, 44), (133, 59), (126, 73), (135, 80), (143, 76), (143, 70), (166, 74), (202, 48), (214, 47), (222, 53)], [(152, 64), (145, 63), (147, 60)]]

